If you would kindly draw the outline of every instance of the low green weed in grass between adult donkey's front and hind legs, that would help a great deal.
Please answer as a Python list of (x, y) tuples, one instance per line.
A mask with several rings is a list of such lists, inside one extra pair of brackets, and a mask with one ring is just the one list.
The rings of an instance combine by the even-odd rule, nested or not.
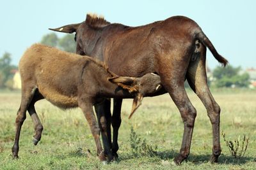
[(134, 156), (149, 155), (150, 157), (153, 157), (157, 155), (157, 145), (155, 147), (148, 145), (146, 139), (141, 139), (136, 134), (133, 127), (131, 127), (130, 145), (132, 155)]

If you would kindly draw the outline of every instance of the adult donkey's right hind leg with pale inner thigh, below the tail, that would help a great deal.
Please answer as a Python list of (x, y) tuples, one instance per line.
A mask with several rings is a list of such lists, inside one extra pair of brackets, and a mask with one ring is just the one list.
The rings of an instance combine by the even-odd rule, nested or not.
[(206, 48), (201, 44), (200, 57), (189, 64), (187, 79), (190, 87), (200, 98), (207, 110), (212, 124), (212, 157), (211, 162), (218, 162), (221, 153), (220, 146), (220, 106), (216, 103), (207, 85), (205, 71)]

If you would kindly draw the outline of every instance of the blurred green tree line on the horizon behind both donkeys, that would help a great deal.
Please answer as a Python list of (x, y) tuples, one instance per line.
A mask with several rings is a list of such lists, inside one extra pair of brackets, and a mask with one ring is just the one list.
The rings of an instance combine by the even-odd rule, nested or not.
[[(76, 52), (76, 41), (74, 34), (65, 34), (62, 38), (52, 32), (42, 37), (40, 43), (44, 45), (54, 46), (67, 52)], [(17, 66), (11, 64), (12, 58), (10, 53), (6, 52), (0, 58), (0, 88), (12, 87), (12, 70), (17, 69)], [(209, 78), (211, 87), (248, 87), (249, 75), (241, 73), (241, 67), (216, 67), (212, 71), (212, 78)], [(186, 83), (188, 87), (188, 83)], [(11, 88), (10, 88), (11, 89)]]

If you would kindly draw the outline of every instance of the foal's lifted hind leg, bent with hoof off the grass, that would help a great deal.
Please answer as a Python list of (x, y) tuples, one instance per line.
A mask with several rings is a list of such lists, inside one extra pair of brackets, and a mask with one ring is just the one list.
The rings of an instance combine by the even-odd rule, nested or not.
[(40, 92), (38, 92), (38, 89), (36, 89), (33, 99), (28, 106), (28, 113), (29, 113), (30, 117), (32, 118), (33, 123), (35, 125), (35, 135), (33, 136), (34, 137), (33, 138), (34, 145), (37, 145), (37, 143), (40, 141), (42, 131), (44, 129), (40, 119), (38, 118), (36, 110), (35, 110), (35, 103), (36, 103), (36, 101), (39, 101), (40, 99), (44, 99), (44, 97), (42, 96), (42, 94), (40, 94)]

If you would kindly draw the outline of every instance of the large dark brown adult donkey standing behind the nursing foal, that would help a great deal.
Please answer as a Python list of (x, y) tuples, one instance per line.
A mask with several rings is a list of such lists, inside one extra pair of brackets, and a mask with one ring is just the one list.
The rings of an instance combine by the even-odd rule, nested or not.
[[(195, 21), (176, 16), (140, 27), (129, 27), (110, 24), (104, 18), (87, 15), (86, 20), (80, 24), (65, 25), (51, 30), (76, 32), (76, 52), (104, 60), (109, 69), (116, 74), (135, 77), (146, 73), (159, 74), (164, 89), (179, 108), (184, 122), (180, 153), (174, 159), (176, 164), (180, 164), (189, 155), (196, 117), (196, 110), (184, 89), (184, 80), (187, 79), (207, 109), (212, 124), (211, 162), (218, 162), (221, 153), (220, 107), (214, 101), (207, 85), (206, 46), (215, 59), (224, 66), (227, 60), (219, 55)], [(114, 99), (114, 102), (112, 153), (115, 156), (118, 150), (117, 133), (121, 123), (122, 99)], [(107, 122), (110, 122), (108, 103), (105, 103), (101, 110), (106, 110)], [(110, 133), (108, 135), (110, 136)]]

